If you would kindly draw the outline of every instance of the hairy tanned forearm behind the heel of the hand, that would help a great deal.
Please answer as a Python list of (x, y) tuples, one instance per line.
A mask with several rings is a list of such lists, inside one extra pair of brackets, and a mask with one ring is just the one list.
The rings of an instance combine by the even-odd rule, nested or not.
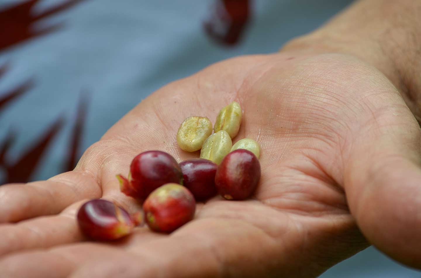
[(421, 119), (421, 1), (358, 0), (283, 50), (347, 53), (382, 71)]

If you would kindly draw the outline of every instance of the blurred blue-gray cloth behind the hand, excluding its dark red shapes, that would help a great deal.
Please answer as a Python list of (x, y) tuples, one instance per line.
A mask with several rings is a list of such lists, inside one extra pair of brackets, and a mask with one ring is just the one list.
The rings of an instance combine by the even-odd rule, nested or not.
[[(9, 157), (19, 156), (33, 138), (65, 112), (74, 118), (81, 89), (92, 93), (83, 149), (97, 141), (128, 110), (159, 87), (225, 58), (276, 51), (288, 39), (320, 26), (350, 0), (259, 0), (244, 41), (232, 49), (213, 44), (201, 22), (208, 1), (89, 0), (41, 24), (65, 21), (60, 31), (22, 44), (0, 56), (11, 71), (0, 92), (28, 77), (37, 82), (19, 101), (2, 111), (0, 139), (19, 127)], [(16, 0), (0, 0), (0, 8)], [(43, 10), (56, 0), (45, 0)], [(187, 8), (188, 7), (188, 8)], [(117, 100), (117, 101), (116, 101)], [(25, 111), (22, 113), (22, 111)], [(36, 179), (61, 170), (72, 125), (66, 126), (37, 169)], [(1, 178), (1, 173), (0, 173)], [(404, 268), (369, 248), (322, 278), (412, 278)]]

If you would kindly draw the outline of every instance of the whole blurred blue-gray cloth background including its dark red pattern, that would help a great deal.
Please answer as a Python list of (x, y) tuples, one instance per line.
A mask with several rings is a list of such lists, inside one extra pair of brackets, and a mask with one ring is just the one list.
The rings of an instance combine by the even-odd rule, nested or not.
[[(351, 0), (0, 0), (0, 184), (72, 170), (161, 86), (276, 52)], [(322, 278), (415, 278), (374, 248)]]

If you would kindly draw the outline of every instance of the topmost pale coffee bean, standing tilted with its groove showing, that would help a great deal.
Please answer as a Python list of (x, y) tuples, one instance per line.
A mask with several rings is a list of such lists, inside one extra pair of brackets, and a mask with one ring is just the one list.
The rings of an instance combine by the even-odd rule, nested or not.
[(234, 138), (240, 129), (242, 118), (241, 107), (238, 102), (231, 102), (219, 111), (213, 130), (218, 132), (225, 130), (231, 138)]

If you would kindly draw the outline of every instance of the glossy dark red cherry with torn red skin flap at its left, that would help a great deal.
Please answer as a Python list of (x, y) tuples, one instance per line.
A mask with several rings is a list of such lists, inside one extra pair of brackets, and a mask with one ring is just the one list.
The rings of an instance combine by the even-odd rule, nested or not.
[(183, 184), (183, 174), (174, 157), (156, 150), (137, 155), (131, 162), (128, 178), (122, 175), (117, 178), (120, 190), (140, 201), (163, 184)]

